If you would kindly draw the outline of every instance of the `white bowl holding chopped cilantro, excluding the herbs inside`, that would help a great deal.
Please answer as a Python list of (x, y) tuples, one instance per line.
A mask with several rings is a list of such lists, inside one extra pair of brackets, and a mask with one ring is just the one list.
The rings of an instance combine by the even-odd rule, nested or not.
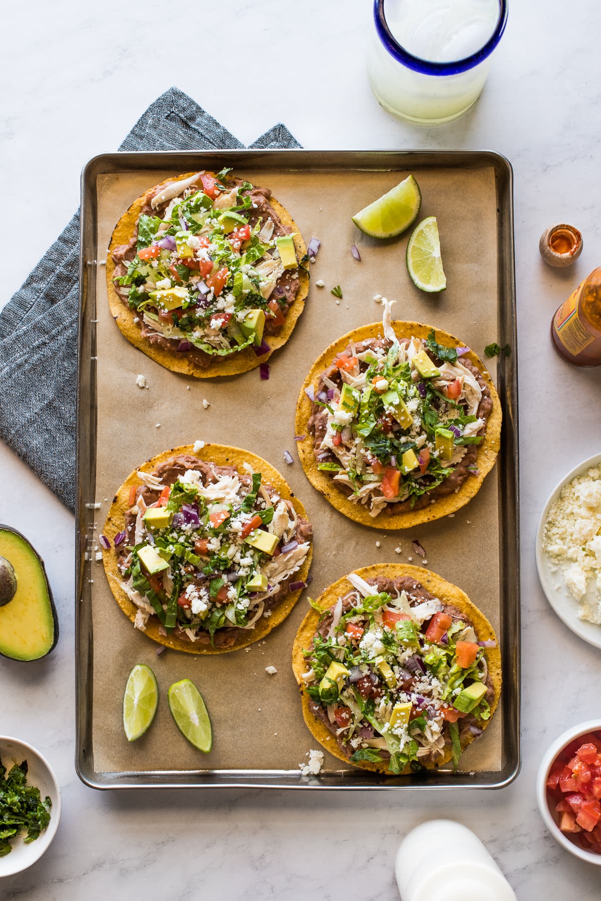
[(0, 760), (6, 769), (11, 769), (15, 763), (23, 763), (27, 760), (28, 773), (27, 783), (37, 786), (40, 789), (42, 799), (46, 796), (50, 797), (52, 806), (50, 808), (50, 823), (48, 828), (40, 834), (34, 842), (25, 844), (23, 842), (23, 832), (15, 838), (11, 844), (13, 850), (0, 857), (0, 878), (3, 876), (14, 876), (23, 869), (31, 867), (36, 860), (40, 860), (41, 855), (50, 846), (50, 842), (56, 835), (60, 822), (60, 788), (59, 782), (54, 774), (54, 770), (50, 767), (50, 763), (45, 757), (42, 757), (40, 751), (32, 748), (31, 744), (20, 742), (19, 739), (9, 738), (6, 735), (0, 735)]

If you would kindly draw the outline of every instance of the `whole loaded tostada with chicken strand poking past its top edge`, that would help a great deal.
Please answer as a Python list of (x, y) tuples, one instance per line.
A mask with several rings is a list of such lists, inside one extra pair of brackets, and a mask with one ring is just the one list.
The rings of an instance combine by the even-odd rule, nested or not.
[(391, 322), (349, 332), (305, 379), (298, 454), (341, 513), (405, 529), (467, 504), (495, 464), (501, 405), (482, 362), (447, 332)]

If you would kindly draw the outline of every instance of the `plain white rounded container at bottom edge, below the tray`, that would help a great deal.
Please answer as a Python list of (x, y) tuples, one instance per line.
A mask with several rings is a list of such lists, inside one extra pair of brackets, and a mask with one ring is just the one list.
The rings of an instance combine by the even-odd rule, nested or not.
[(396, 852), (395, 874), (403, 901), (516, 901), (478, 836), (453, 820), (416, 826)]

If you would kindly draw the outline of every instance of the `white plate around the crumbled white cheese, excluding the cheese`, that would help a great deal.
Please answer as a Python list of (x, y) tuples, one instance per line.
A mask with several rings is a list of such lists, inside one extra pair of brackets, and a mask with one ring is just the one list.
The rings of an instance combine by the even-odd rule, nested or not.
[[(560, 484), (556, 486), (551, 495), (547, 499), (547, 503), (542, 508), (541, 521), (538, 531), (536, 532), (536, 568), (539, 571), (542, 590), (547, 596), (547, 600), (555, 613), (560, 617), (573, 633), (576, 633), (585, 642), (601, 648), (601, 625), (595, 623), (587, 623), (586, 620), (578, 619), (579, 604), (576, 598), (571, 595), (568, 586), (563, 579), (563, 573), (560, 569), (551, 572), (551, 560), (542, 550), (542, 530), (547, 521), (551, 504), (560, 496), (561, 488), (571, 482), (572, 478), (581, 476), (591, 469), (591, 467), (601, 466), (601, 453), (597, 453), (594, 457), (589, 457), (579, 463), (577, 467), (571, 470), (565, 478), (562, 478)], [(592, 583), (589, 585), (589, 591), (594, 590)]]

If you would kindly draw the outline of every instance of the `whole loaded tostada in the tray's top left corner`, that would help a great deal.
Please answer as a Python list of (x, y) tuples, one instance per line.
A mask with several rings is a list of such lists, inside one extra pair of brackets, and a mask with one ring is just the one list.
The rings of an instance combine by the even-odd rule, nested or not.
[(117, 223), (111, 313), (161, 366), (197, 378), (258, 366), (303, 312), (305, 243), (269, 188), (221, 172), (151, 187)]

